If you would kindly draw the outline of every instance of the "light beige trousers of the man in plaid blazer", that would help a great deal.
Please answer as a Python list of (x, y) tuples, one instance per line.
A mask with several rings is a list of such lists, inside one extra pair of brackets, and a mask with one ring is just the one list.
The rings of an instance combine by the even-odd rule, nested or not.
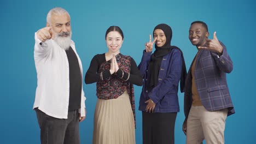
[(203, 106), (192, 106), (187, 120), (187, 144), (224, 143), (225, 121), (228, 109), (207, 111)]

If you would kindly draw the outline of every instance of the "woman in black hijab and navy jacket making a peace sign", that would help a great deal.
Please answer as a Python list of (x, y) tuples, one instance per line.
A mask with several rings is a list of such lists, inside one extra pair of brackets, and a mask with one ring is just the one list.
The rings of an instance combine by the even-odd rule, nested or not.
[(138, 65), (144, 79), (139, 100), (143, 143), (174, 143), (174, 125), (179, 112), (178, 83), (181, 80), (183, 92), (187, 70), (182, 51), (171, 45), (171, 27), (162, 23), (154, 28), (153, 35), (153, 41), (149, 35)]

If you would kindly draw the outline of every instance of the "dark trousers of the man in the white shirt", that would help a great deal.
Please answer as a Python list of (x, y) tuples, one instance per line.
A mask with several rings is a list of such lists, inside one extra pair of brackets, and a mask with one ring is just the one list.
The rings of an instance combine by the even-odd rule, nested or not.
[(80, 143), (78, 110), (69, 111), (67, 119), (48, 116), (38, 108), (35, 110), (42, 144)]

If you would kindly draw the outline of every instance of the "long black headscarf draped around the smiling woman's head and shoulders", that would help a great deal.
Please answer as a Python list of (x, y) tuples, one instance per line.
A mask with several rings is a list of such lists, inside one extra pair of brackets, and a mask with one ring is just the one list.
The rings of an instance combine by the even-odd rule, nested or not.
[[(181, 75), (181, 92), (184, 92), (184, 85), (185, 85), (185, 78), (187, 76), (187, 69), (183, 57), (183, 53), (181, 49), (179, 49), (177, 46), (171, 46), (171, 40), (172, 40), (172, 29), (170, 26), (166, 25), (165, 23), (161, 23), (157, 25), (154, 28), (155, 29), (161, 29), (164, 31), (166, 42), (163, 46), (158, 47), (155, 44), (155, 51), (153, 55), (151, 56), (150, 62), (149, 62), (149, 73), (150, 73), (150, 84), (149, 86), (151, 88), (154, 88), (158, 84), (158, 74), (161, 67), (162, 57), (167, 55), (169, 52), (172, 51), (172, 49), (178, 49), (181, 52), (182, 55), (182, 75)], [(153, 31), (153, 35), (154, 35)]]

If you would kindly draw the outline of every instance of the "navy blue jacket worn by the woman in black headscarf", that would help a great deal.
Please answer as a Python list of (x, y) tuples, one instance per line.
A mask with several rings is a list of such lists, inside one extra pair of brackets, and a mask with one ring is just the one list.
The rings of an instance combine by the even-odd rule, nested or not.
[(172, 49), (168, 55), (162, 57), (161, 67), (158, 75), (158, 85), (149, 88), (149, 62), (152, 52), (143, 51), (141, 63), (138, 68), (144, 79), (141, 97), (139, 99), (139, 110), (146, 111), (149, 98), (154, 101), (154, 112), (179, 112), (178, 84), (182, 73), (182, 56), (178, 49)]

